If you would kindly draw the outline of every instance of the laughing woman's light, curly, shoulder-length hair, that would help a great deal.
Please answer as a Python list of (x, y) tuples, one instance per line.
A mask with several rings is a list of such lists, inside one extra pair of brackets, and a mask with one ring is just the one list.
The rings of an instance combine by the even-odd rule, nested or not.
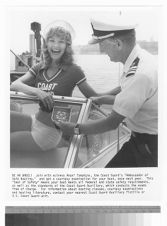
[(63, 54), (63, 56), (60, 59), (60, 64), (62, 66), (65, 65), (71, 65), (73, 63), (73, 50), (71, 47), (72, 44), (72, 37), (70, 32), (68, 32), (67, 30), (65, 30), (62, 27), (54, 27), (54, 28), (50, 28), (49, 31), (47, 32), (45, 39), (43, 39), (43, 46), (42, 46), (42, 61), (44, 64), (44, 67), (49, 67), (49, 65), (51, 64), (51, 57), (50, 54), (48, 52), (47, 49), (47, 42), (49, 40), (49, 38), (51, 37), (60, 37), (63, 40), (66, 41), (66, 49), (65, 52)]

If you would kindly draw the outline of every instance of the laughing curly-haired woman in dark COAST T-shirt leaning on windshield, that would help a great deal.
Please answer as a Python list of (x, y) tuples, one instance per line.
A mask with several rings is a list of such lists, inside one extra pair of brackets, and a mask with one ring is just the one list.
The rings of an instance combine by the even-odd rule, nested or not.
[(66, 27), (56, 25), (48, 30), (41, 62), (11, 84), (11, 90), (40, 100), (34, 117), (11, 111), (11, 151), (47, 151), (57, 146), (62, 132), (51, 120), (52, 95), (71, 96), (76, 86), (86, 97), (97, 95), (82, 69), (73, 62), (72, 28), (70, 31)]

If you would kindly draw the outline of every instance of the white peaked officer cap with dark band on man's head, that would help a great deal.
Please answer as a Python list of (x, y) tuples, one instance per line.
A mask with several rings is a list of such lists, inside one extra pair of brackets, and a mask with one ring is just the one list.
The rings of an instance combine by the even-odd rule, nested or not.
[(120, 21), (109, 24), (91, 19), (91, 26), (93, 29), (93, 34), (89, 44), (95, 44), (102, 39), (125, 34), (128, 31), (135, 29), (137, 24), (127, 25), (125, 23), (120, 23)]

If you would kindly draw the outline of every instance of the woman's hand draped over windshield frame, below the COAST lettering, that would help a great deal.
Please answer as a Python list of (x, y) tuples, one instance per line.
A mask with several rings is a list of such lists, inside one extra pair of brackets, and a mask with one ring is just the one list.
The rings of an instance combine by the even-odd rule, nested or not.
[(44, 108), (44, 110), (49, 111), (49, 112), (52, 111), (53, 105), (54, 105), (52, 95), (50, 93), (43, 91), (41, 89), (38, 89), (38, 88), (37, 88), (36, 95), (39, 98), (39, 100), (41, 101), (41, 105)]

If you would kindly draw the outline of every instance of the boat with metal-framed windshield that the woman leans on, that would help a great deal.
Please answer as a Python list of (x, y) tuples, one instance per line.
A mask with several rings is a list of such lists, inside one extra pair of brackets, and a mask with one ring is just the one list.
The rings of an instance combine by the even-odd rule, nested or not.
[[(34, 96), (11, 91), (11, 110), (34, 115), (39, 100)], [(53, 96), (54, 106), (61, 106), (58, 117), (70, 109), (68, 120), (84, 123), (107, 117), (105, 109), (90, 99)], [(96, 135), (62, 136), (52, 151), (14, 152), (10, 155), (11, 168), (104, 168), (130, 137), (129, 129), (121, 124), (118, 129)]]

